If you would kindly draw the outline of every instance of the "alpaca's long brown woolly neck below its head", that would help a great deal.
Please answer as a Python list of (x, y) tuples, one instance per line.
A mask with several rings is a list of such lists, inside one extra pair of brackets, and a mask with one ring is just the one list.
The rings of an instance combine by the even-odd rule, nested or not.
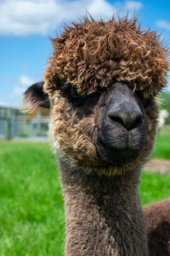
[(66, 256), (148, 256), (138, 196), (140, 173), (85, 175), (61, 166)]

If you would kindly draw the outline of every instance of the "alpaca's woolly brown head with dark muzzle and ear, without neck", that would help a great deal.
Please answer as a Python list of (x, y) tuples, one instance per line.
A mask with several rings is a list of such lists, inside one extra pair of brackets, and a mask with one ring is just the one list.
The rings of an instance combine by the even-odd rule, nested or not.
[(42, 105), (49, 97), (49, 134), (59, 160), (106, 175), (143, 164), (156, 137), (155, 96), (170, 67), (157, 33), (142, 31), (135, 18), (84, 19), (52, 43), (43, 98), (34, 85), (25, 101)]

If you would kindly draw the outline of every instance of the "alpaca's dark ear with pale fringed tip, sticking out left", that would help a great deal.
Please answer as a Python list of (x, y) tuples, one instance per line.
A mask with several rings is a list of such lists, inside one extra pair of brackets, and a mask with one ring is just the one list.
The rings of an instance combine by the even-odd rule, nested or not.
[(32, 112), (36, 107), (50, 109), (49, 95), (43, 90), (44, 82), (31, 85), (24, 93), (22, 101), (23, 111)]

